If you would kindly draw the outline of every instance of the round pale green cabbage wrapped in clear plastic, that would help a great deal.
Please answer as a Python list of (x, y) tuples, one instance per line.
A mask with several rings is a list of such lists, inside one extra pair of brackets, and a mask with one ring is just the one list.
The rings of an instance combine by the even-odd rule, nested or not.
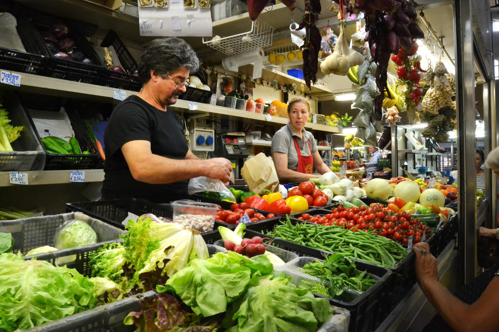
[(88, 223), (71, 219), (64, 221), (55, 231), (54, 246), (59, 250), (69, 249), (97, 243), (97, 239), (97, 233)]

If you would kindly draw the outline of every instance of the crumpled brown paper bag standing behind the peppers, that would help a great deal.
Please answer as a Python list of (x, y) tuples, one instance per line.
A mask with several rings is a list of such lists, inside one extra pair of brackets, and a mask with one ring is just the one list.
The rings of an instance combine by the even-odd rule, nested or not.
[(254, 193), (262, 194), (264, 189), (272, 193), (279, 190), (279, 179), (274, 162), (271, 157), (265, 156), (262, 152), (245, 162), (241, 175), (246, 180), (250, 191)]

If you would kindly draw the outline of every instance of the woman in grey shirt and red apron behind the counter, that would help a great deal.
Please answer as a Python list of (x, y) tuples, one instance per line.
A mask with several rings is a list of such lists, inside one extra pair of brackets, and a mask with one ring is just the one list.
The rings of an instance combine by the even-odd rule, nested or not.
[(289, 122), (280, 128), (272, 139), (272, 158), (281, 183), (302, 182), (313, 175), (331, 172), (322, 161), (311, 132), (304, 126), (310, 113), (310, 105), (304, 98), (295, 98), (287, 107)]

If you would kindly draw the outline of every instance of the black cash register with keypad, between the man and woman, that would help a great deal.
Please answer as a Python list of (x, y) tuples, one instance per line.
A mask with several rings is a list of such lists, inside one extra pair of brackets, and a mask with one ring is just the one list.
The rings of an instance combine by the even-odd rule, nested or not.
[(217, 157), (231, 161), (234, 179), (241, 178), (241, 168), (249, 155), (244, 132), (228, 132), (217, 136)]

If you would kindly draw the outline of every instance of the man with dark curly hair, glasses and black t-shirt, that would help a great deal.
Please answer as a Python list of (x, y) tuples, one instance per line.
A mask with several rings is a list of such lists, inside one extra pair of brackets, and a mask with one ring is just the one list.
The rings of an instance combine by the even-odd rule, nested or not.
[(142, 90), (114, 109), (104, 133), (104, 199), (168, 203), (187, 197), (191, 178), (229, 182), (231, 162), (196, 157), (168, 108), (186, 91), (189, 73), (198, 67), (194, 50), (183, 39), (154, 39), (146, 48), (139, 64)]

